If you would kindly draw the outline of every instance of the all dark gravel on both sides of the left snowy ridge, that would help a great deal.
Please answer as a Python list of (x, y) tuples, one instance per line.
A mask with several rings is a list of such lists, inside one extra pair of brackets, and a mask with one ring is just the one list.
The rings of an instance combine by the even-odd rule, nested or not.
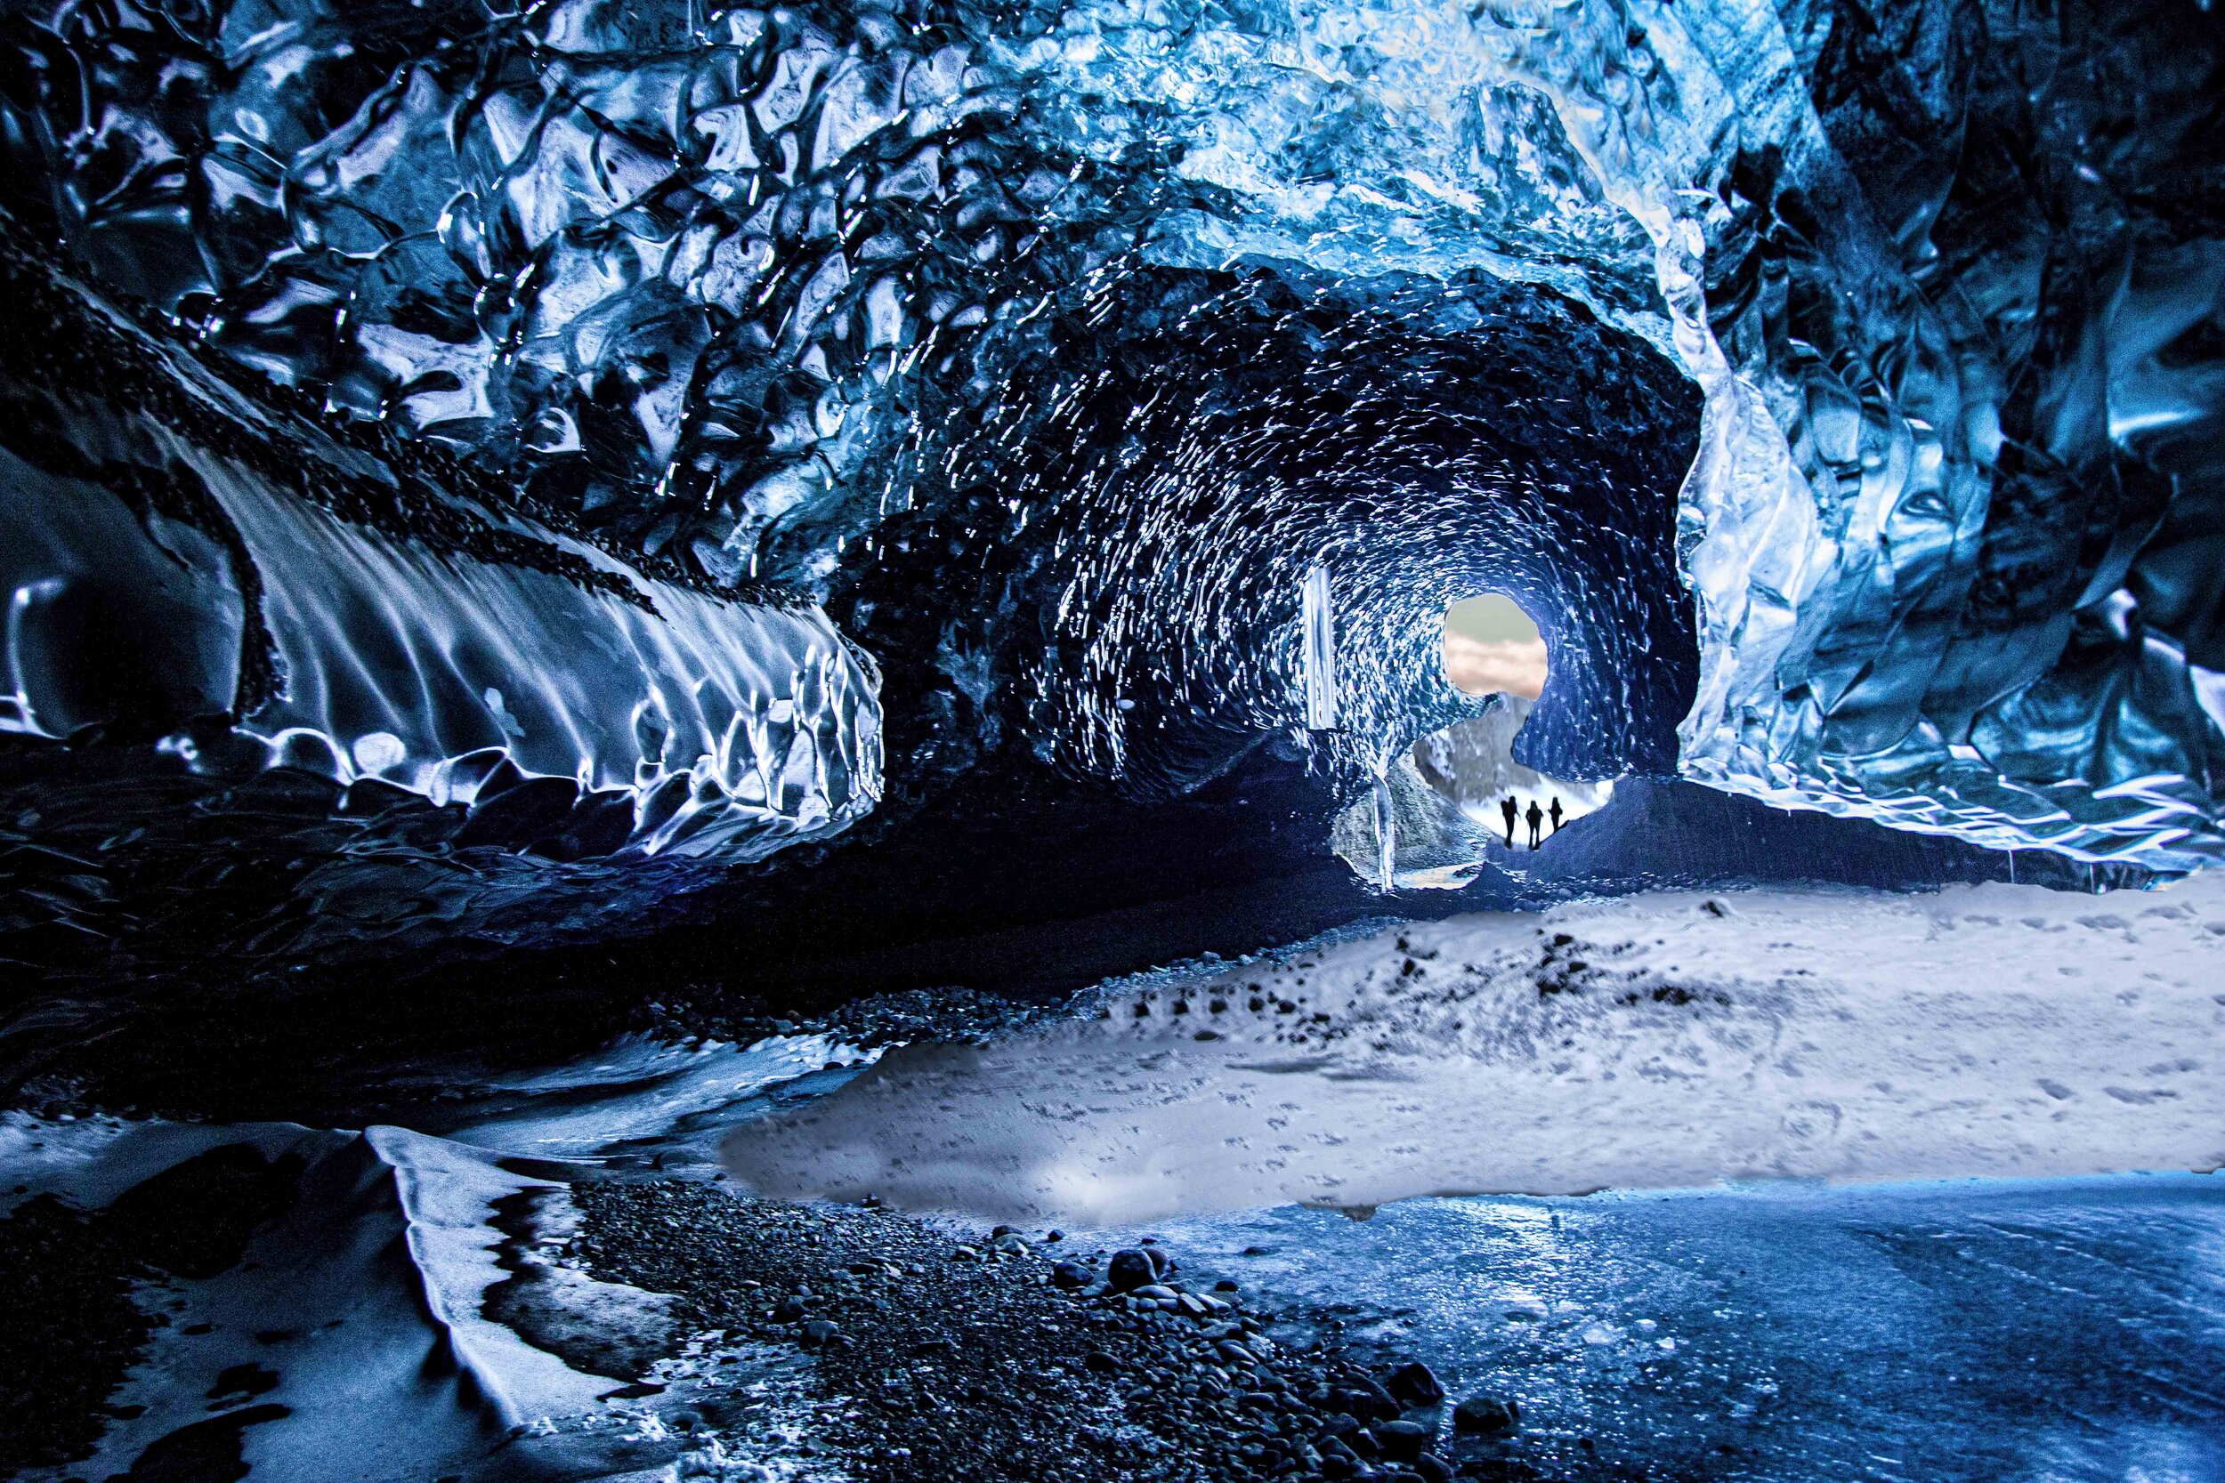
[[(743, 1452), (725, 1452), (754, 1459), (736, 1463), (741, 1476), (761, 1465), (783, 1479), (857, 1483), (1540, 1476), (1522, 1463), (1511, 1405), (1448, 1399), (1406, 1356), (1344, 1347), (1335, 1314), (1264, 1312), (1233, 1281), (1188, 1278), (1157, 1243), (1079, 1250), (1055, 1232), (1003, 1227), (966, 1238), (872, 1205), (794, 1205), (721, 1183), (599, 1178), (578, 1167), (572, 1178), (547, 1187), (578, 1216), (554, 1261), (676, 1298), (670, 1323), (652, 1325), (663, 1338), (650, 1341), (676, 1350), (607, 1363), (603, 1350), (639, 1347), (630, 1334), (594, 1332), (616, 1310), (587, 1305), (550, 1323), (510, 1312), (532, 1296), (512, 1292), (516, 1283), (487, 1290), (487, 1316), (587, 1372), (634, 1376), (612, 1381), (605, 1401), (690, 1434), (690, 1456), (716, 1459), (719, 1439), (748, 1439)], [(225, 1145), (105, 1207), (38, 1194), (0, 1216), (0, 1476), (113, 1474), (85, 1459), (111, 1425), (142, 1412), (120, 1405), (118, 1387), (151, 1363), (169, 1298), (180, 1283), (236, 1270), (249, 1238), (298, 1203), (298, 1181), (294, 1156), (265, 1161)], [(530, 1238), (530, 1214), (507, 1212), (518, 1225), (498, 1203), (490, 1236)], [(563, 1294), (563, 1283), (543, 1287)], [(645, 1296), (650, 1307), (663, 1301)], [(772, 1356), (768, 1372), (803, 1385), (801, 1405), (783, 1412), (785, 1441), (765, 1445), (761, 1387), (661, 1394), (661, 1358), (699, 1372), (716, 1363), (703, 1354), (759, 1367)], [(267, 1390), (278, 1374), (247, 1376), (256, 1379)], [(251, 1405), (274, 1399), (254, 1383), (209, 1394), (205, 1421), (156, 1439), (125, 1476), (245, 1476), (245, 1427), (287, 1407)], [(367, 1421), (378, 1421), (376, 1403)], [(556, 1454), (536, 1459), (516, 1452), (496, 1472), (603, 1476)]]

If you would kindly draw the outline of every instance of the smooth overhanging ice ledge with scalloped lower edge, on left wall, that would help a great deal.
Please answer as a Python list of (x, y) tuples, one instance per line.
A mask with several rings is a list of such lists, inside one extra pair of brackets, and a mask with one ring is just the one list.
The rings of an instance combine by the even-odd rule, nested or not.
[[(171, 731), (478, 805), (458, 840), (756, 858), (879, 794), (870, 660), (211, 376), (11, 245), (0, 729)], [(216, 725), (218, 731), (209, 727)]]

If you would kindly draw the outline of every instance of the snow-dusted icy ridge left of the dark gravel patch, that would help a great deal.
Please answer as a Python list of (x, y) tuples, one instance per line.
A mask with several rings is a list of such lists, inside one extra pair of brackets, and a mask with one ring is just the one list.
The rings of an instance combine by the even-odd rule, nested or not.
[[(565, 1181), (708, 1174), (736, 1118), (841, 1085), (870, 1054), (821, 1034), (627, 1036), (572, 1065), (458, 1078), (452, 1136), (9, 1112), (0, 1214), (40, 1194), (102, 1207), (234, 1143), (305, 1163), (294, 1205), (236, 1265), (138, 1287), (162, 1325), (111, 1396), (120, 1419), (93, 1459), (24, 1476), (120, 1474), (205, 1425), (236, 1427), (258, 1479), (343, 1476), (334, 1459), (363, 1483), (828, 1476), (799, 1452), (819, 1427), (810, 1361), (688, 1334), (670, 1298), (565, 1267)], [(688, 1430), (708, 1410), (739, 1421)]]

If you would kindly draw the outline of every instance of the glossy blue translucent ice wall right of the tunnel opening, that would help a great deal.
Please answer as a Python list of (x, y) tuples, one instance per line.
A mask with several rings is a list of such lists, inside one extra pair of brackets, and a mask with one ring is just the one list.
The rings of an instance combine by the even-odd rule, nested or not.
[(1646, 222), (1709, 394), (1684, 772), (1991, 845), (2214, 856), (2207, 20), (1571, 7), (1517, 67)]

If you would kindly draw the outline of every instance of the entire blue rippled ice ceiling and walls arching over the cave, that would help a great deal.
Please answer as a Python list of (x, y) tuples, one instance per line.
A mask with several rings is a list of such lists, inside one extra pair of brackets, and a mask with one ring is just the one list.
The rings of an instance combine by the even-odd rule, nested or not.
[(1475, 591), (1544, 627), (1544, 772), (2225, 852), (2194, 0), (0, 27), (18, 956), (129, 827), (218, 936), (285, 838), (265, 947), (512, 940), (554, 874), (639, 923), (968, 774), (1264, 747), (1326, 832), (1489, 705)]

